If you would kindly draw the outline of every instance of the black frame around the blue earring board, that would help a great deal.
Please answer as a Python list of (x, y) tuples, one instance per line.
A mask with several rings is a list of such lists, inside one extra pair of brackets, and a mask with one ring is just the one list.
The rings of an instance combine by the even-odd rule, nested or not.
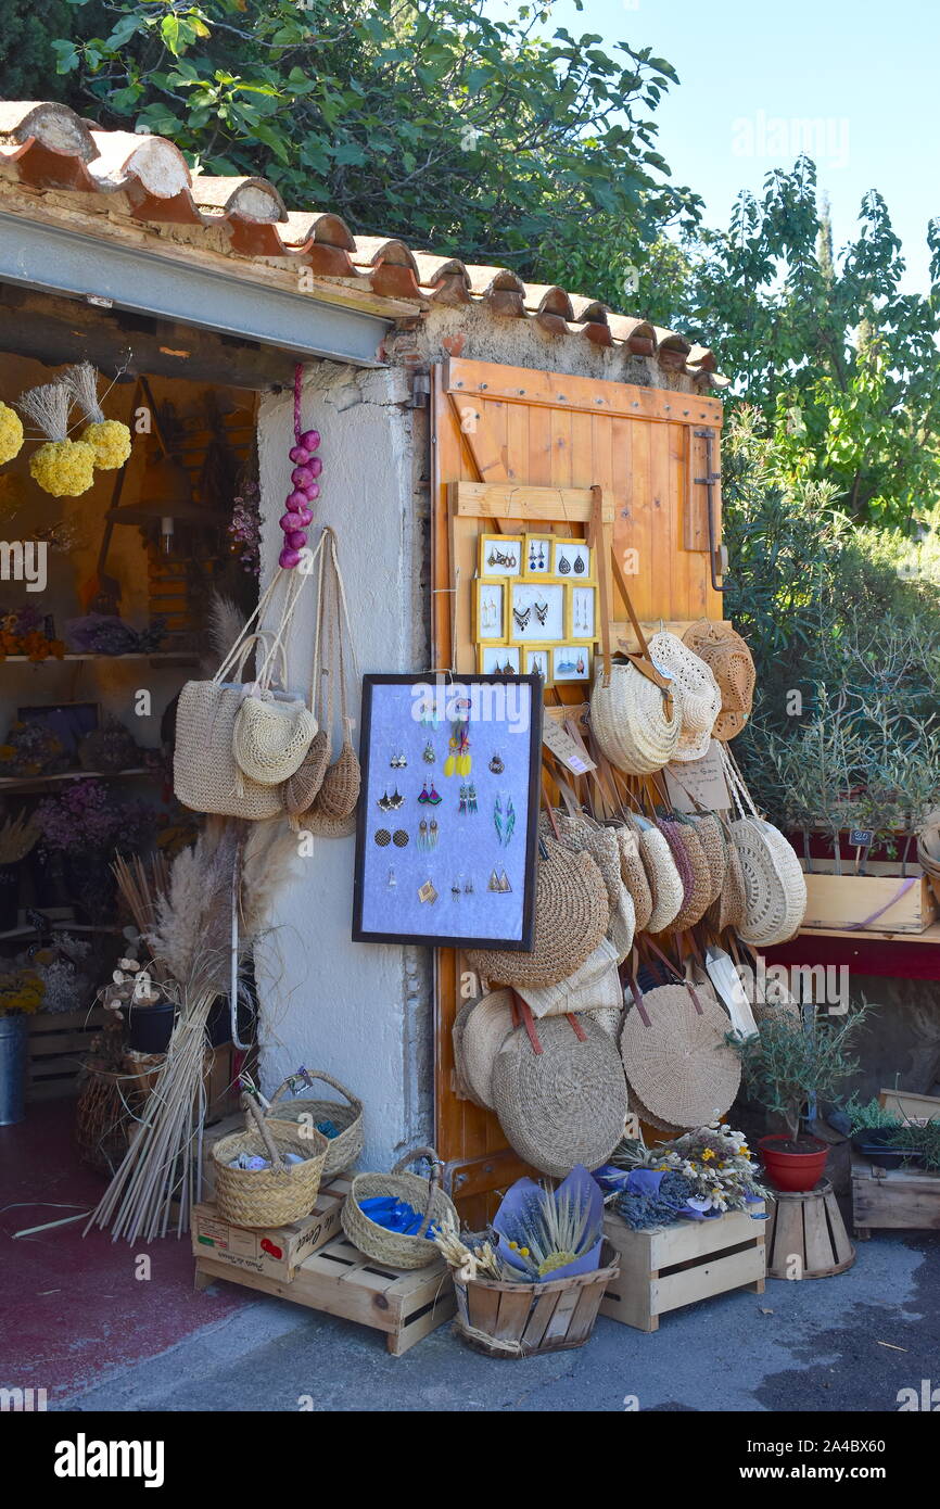
[[(521, 684), (530, 687), (530, 729), (528, 729), (528, 780), (527, 780), (527, 833), (524, 862), (524, 899), (522, 899), (522, 930), (518, 939), (492, 936), (477, 936), (475, 933), (427, 934), (415, 931), (373, 931), (362, 925), (365, 899), (367, 845), (368, 845), (368, 791), (370, 768), (373, 764), (373, 691), (376, 687), (400, 685), (412, 688), (435, 687), (453, 696), (454, 688)], [(487, 676), (480, 673), (454, 676), (422, 676), (400, 673), (370, 673), (362, 678), (362, 714), (359, 764), (362, 767), (362, 800), (356, 816), (356, 860), (353, 875), (353, 943), (412, 943), (424, 948), (498, 948), (515, 952), (531, 952), (536, 933), (536, 854), (539, 844), (539, 804), (542, 797), (542, 726), (543, 726), (543, 682), (536, 675), (527, 676)]]

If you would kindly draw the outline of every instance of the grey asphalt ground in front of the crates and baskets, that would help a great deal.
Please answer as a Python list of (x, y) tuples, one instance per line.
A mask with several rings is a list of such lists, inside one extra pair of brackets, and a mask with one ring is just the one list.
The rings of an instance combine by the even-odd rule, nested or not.
[(629, 1396), (649, 1411), (896, 1411), (899, 1388), (940, 1385), (938, 1301), (940, 1234), (914, 1233), (875, 1234), (839, 1278), (771, 1280), (653, 1335), (601, 1320), (588, 1346), (522, 1363), (450, 1326), (392, 1358), (373, 1331), (261, 1299), (53, 1408), (294, 1411), (312, 1394), (329, 1411), (619, 1412)]

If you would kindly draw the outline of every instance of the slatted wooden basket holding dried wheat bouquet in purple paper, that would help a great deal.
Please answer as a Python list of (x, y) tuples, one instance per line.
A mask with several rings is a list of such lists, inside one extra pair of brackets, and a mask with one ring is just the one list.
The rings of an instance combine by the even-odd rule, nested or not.
[(594, 1329), (607, 1286), (620, 1274), (620, 1259), (605, 1239), (601, 1268), (545, 1284), (496, 1278), (454, 1278), (454, 1329), (487, 1357), (536, 1357), (584, 1346)]

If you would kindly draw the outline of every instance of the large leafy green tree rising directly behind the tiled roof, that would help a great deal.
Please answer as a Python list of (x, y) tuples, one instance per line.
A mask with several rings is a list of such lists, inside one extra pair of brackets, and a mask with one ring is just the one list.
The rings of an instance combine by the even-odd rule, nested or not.
[(77, 0), (54, 44), (75, 109), (169, 136), (207, 172), (263, 174), (358, 231), (548, 281), (572, 228), (623, 226), (635, 261), (699, 213), (656, 151), (671, 65), (594, 33), (543, 38), (549, 3), (493, 20), (484, 0), (109, 0), (103, 35), (84, 14)]

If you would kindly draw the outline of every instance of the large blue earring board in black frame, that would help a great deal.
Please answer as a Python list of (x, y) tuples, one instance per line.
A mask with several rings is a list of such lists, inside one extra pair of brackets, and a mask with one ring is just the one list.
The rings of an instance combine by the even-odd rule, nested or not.
[(539, 678), (365, 676), (359, 759), (353, 942), (531, 949)]

